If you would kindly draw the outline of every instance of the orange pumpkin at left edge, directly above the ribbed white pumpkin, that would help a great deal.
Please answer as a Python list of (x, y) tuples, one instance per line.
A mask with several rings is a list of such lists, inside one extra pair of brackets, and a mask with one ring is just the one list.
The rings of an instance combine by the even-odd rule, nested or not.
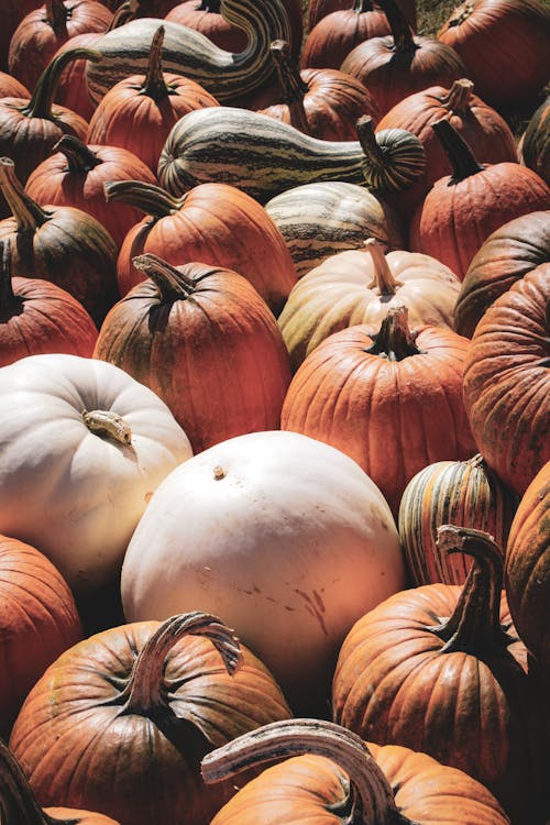
[(98, 331), (65, 289), (11, 275), (10, 244), (0, 241), (0, 366), (26, 355), (66, 352), (90, 356)]

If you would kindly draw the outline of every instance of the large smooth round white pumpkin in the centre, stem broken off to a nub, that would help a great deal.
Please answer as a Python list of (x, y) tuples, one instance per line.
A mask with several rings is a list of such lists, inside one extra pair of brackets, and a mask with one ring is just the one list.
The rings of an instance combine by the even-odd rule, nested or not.
[[(223, 441), (155, 492), (122, 566), (128, 622), (211, 612), (295, 712), (330, 690), (353, 623), (405, 586), (389, 507), (339, 450), (295, 432)], [(324, 708), (327, 710), (327, 708)]]

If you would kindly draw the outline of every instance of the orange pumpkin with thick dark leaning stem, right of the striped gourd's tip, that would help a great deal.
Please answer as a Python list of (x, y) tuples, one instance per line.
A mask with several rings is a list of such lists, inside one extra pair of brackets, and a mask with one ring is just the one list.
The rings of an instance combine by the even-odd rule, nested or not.
[(431, 124), (452, 164), (413, 216), (409, 249), (433, 255), (463, 280), (492, 232), (527, 212), (544, 209), (550, 187), (518, 163), (480, 165), (447, 119)]

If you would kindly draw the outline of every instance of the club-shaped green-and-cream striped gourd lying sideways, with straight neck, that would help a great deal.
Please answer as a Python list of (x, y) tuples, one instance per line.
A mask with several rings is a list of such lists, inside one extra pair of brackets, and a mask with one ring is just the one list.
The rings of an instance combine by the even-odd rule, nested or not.
[(265, 204), (286, 189), (322, 180), (369, 186), (382, 195), (410, 186), (424, 172), (424, 146), (403, 129), (374, 134), (358, 121), (358, 141), (321, 141), (266, 114), (220, 106), (189, 112), (172, 129), (158, 179), (173, 195), (223, 183)]

